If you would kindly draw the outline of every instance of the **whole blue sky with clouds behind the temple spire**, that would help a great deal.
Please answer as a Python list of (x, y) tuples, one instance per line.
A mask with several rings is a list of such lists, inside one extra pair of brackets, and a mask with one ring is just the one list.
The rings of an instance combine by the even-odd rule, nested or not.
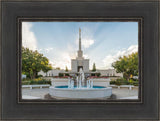
[(22, 44), (48, 57), (53, 67), (71, 68), (76, 58), (79, 28), (90, 69), (112, 68), (118, 57), (138, 51), (137, 22), (23, 22)]

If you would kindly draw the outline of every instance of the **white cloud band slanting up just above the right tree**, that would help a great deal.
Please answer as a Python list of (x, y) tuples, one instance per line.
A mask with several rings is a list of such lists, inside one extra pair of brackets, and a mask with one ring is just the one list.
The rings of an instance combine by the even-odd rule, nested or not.
[(106, 68), (112, 68), (111, 64), (113, 62), (115, 62), (119, 57), (121, 56), (127, 56), (129, 54), (132, 54), (133, 52), (137, 52), (138, 51), (138, 45), (131, 45), (128, 49), (123, 49), (120, 51), (117, 51), (117, 53), (115, 55), (107, 55), (104, 59), (103, 59), (103, 63), (105, 65)]

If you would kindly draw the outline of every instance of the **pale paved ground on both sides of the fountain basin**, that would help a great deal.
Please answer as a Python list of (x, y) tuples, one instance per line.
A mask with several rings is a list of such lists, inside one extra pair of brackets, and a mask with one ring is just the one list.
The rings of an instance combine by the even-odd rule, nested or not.
[[(42, 88), (42, 89), (22, 89), (22, 97), (33, 97), (31, 99), (40, 98), (44, 99), (44, 95), (49, 93), (49, 88)], [(112, 94), (116, 95), (117, 99), (136, 99), (136, 96), (138, 96), (138, 90), (129, 90), (125, 88), (117, 89), (117, 88), (112, 88)]]

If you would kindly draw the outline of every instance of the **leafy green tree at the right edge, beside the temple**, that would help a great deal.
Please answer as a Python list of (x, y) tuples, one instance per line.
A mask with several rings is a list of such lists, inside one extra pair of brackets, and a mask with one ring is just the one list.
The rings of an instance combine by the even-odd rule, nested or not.
[(138, 76), (138, 52), (120, 57), (112, 63), (112, 67), (116, 69), (116, 72), (123, 73), (123, 77), (127, 80), (131, 76)]

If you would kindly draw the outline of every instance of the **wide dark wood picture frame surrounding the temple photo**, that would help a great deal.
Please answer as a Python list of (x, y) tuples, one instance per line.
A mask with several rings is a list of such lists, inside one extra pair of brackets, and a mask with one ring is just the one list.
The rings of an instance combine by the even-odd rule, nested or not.
[[(1, 110), (2, 119), (158, 120), (159, 38), (158, 1), (2, 1)], [(36, 19), (34, 19), (36, 18)], [(23, 101), (19, 98), (19, 20), (136, 19), (139, 26), (140, 100)], [(58, 20), (57, 19), (57, 20)], [(87, 21), (86, 19), (86, 21)]]

